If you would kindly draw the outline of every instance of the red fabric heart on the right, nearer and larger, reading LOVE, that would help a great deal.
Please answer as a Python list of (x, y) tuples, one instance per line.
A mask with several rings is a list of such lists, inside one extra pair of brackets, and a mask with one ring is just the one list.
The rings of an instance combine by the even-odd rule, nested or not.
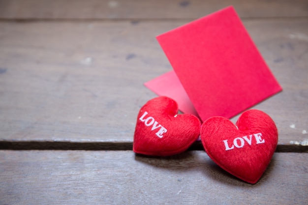
[(254, 184), (275, 152), (278, 131), (273, 119), (259, 110), (248, 110), (236, 126), (225, 117), (211, 117), (201, 126), (205, 151), (225, 171)]

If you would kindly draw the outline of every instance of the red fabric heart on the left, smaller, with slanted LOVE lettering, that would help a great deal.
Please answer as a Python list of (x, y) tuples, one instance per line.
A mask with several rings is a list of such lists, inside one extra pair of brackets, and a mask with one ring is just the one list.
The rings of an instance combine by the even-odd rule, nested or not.
[(188, 114), (177, 115), (178, 104), (168, 97), (149, 100), (139, 111), (133, 151), (169, 156), (185, 151), (200, 135), (200, 120)]

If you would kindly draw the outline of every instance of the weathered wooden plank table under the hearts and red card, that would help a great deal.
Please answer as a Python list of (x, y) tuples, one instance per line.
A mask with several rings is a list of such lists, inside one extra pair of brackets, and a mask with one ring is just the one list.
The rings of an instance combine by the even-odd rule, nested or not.
[[(172, 69), (155, 36), (231, 4), (283, 88), (254, 106), (279, 131), (255, 185), (200, 143), (131, 150), (143, 83)], [(307, 152), (307, 0), (0, 0), (1, 205), (307, 205)]]

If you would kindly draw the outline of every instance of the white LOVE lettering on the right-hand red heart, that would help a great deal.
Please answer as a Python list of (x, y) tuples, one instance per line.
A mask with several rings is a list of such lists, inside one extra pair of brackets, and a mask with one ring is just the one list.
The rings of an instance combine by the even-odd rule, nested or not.
[[(254, 138), (255, 138), (255, 144), (262, 144), (265, 143), (265, 140), (262, 139), (262, 133), (257, 133), (257, 134), (253, 134)], [(245, 146), (245, 141), (248, 143), (248, 145), (251, 145), (252, 143), (252, 135), (249, 135), (249, 139), (247, 136), (244, 137), (237, 137), (233, 140), (233, 145), (230, 147), (228, 145), (228, 140), (223, 140), (222, 142), (224, 143), (224, 146), (226, 147), (226, 151), (227, 150), (231, 150), (234, 149), (234, 146), (237, 148), (242, 148), (243, 146)]]

